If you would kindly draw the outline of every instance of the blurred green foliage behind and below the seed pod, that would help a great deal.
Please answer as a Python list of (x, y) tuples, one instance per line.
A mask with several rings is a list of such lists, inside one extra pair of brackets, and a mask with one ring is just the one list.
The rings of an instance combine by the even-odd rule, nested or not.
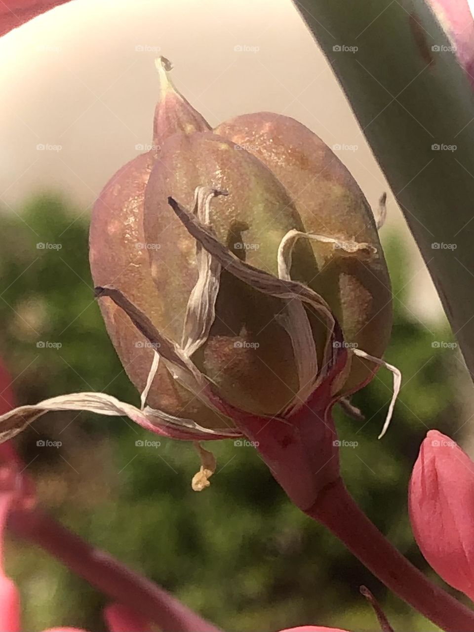
[[(36, 198), (19, 215), (0, 215), (0, 354), (19, 404), (83, 390), (139, 403), (94, 301), (87, 219), (54, 196)], [(380, 370), (354, 398), (366, 421), (336, 411), (336, 422), (342, 439), (358, 442), (341, 449), (349, 490), (392, 542), (425, 567), (410, 533), (406, 488), (427, 428), (449, 433), (458, 414), (457, 360), (451, 349), (432, 348), (434, 340), (451, 339), (446, 327), (428, 331), (404, 308), (408, 270), (395, 234), (386, 236), (386, 254), (396, 296), (386, 358), (404, 375), (394, 419), (377, 441), (392, 389), (391, 375)], [(16, 445), (42, 503), (65, 525), (229, 632), (297, 624), (377, 629), (361, 584), (384, 604), (395, 629), (435, 629), (291, 506), (251, 447), (210, 443), (219, 468), (210, 489), (196, 494), (193, 446), (166, 439), (157, 448), (135, 446), (147, 437), (129, 420), (55, 413), (37, 420)], [(37, 447), (46, 438), (61, 447)], [(25, 631), (61, 624), (105, 629), (104, 595), (59, 562), (14, 539), (7, 561), (21, 588)]]

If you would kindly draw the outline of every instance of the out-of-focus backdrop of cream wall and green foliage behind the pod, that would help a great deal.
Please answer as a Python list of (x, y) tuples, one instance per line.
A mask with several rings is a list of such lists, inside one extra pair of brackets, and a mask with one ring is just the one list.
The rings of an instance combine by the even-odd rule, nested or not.
[[(349, 489), (424, 567), (406, 513), (410, 469), (428, 428), (470, 451), (471, 382), (456, 346), (446, 346), (451, 333), (384, 176), (289, 0), (74, 0), (0, 40), (0, 354), (18, 403), (81, 390), (139, 402), (93, 298), (87, 234), (106, 180), (151, 142), (158, 54), (173, 61), (174, 82), (210, 125), (252, 111), (293, 116), (331, 147), (356, 147), (336, 153), (372, 207), (387, 191), (381, 238), (395, 319), (386, 359), (401, 368), (403, 387), (382, 441), (391, 397), (383, 370), (354, 398), (365, 422), (337, 411), (337, 428), (358, 444), (341, 450)], [(193, 447), (135, 445), (145, 438), (121, 418), (55, 413), (15, 443), (42, 504), (64, 524), (229, 632), (304, 623), (374, 630), (362, 584), (395, 629), (436, 629), (291, 506), (252, 448), (213, 442), (219, 468), (195, 494)], [(46, 439), (61, 446), (37, 446)], [(15, 538), (7, 562), (25, 632), (104, 630), (104, 596), (58, 562)]]

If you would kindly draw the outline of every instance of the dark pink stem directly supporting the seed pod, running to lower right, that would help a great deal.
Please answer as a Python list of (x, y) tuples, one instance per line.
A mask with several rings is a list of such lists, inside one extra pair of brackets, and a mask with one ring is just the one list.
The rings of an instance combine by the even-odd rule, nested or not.
[(334, 535), (387, 588), (446, 632), (473, 632), (474, 612), (432, 584), (370, 522), (342, 480), (320, 492), (306, 512)]

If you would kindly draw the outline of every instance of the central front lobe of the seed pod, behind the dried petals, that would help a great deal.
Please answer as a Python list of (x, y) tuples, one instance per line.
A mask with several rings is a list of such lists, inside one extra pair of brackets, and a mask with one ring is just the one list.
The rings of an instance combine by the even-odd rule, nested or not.
[[(157, 327), (182, 348), (187, 344), (186, 308), (198, 280), (196, 241), (174, 217), (167, 197), (191, 208), (201, 185), (229, 191), (212, 202), (208, 223), (222, 244), (258, 269), (277, 276), (281, 241), (291, 229), (303, 229), (284, 187), (248, 152), (210, 132), (169, 138), (150, 174), (144, 229), (145, 239), (161, 246), (150, 250), (162, 306)], [(295, 246), (291, 271), (293, 279), (304, 282), (316, 274), (306, 241)], [(229, 403), (255, 414), (279, 413), (299, 389), (291, 339), (279, 322), (284, 302), (250, 288), (225, 269), (217, 284), (215, 319), (209, 335), (191, 349), (191, 359)], [(312, 325), (321, 360), (327, 329), (315, 318)]]

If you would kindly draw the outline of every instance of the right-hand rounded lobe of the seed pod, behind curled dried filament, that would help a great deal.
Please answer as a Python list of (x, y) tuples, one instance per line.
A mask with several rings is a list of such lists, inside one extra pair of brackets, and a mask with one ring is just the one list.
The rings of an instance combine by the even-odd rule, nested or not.
[[(309, 285), (331, 305), (346, 343), (381, 358), (392, 325), (390, 279), (374, 216), (355, 179), (319, 137), (288, 116), (244, 114), (215, 131), (276, 175), (308, 233), (349, 246), (312, 241), (317, 272)], [(355, 241), (366, 247), (348, 252)], [(353, 358), (344, 392), (357, 390), (373, 374), (373, 363)]]

